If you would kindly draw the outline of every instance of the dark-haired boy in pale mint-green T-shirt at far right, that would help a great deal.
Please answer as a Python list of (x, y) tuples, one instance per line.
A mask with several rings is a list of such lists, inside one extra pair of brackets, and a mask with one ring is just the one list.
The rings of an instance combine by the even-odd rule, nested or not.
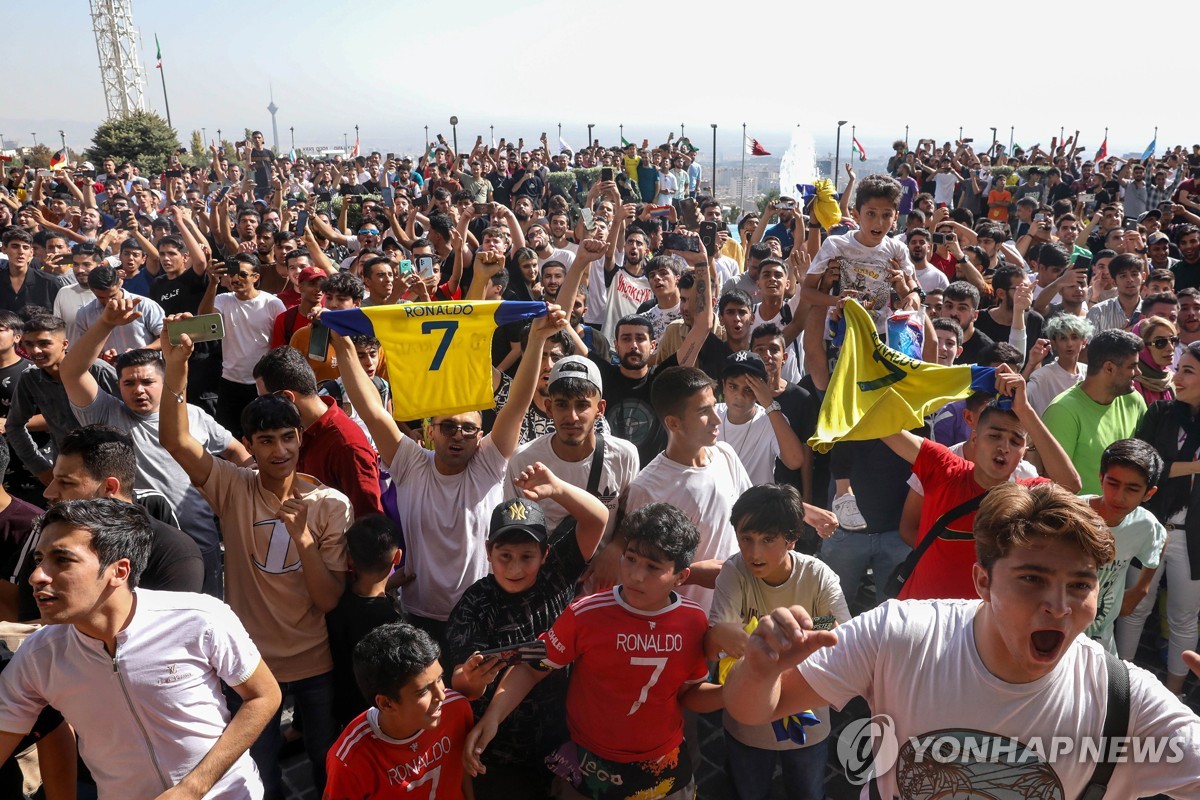
[[(1099, 495), (1084, 495), (1112, 531), (1117, 553), (1100, 567), (1096, 621), (1087, 626), (1092, 637), (1116, 655), (1112, 627), (1117, 616), (1129, 614), (1150, 593), (1154, 570), (1166, 542), (1166, 529), (1141, 507), (1158, 491), (1163, 458), (1141, 439), (1118, 439), (1100, 456)], [(1126, 588), (1130, 566), (1141, 569), (1134, 585)]]

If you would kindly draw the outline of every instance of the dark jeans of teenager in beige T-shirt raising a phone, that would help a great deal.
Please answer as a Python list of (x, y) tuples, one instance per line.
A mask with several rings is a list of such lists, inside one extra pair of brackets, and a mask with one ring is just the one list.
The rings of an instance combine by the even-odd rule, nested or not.
[[(284, 697), (292, 694), (296, 712), (304, 716), (304, 748), (312, 769), (312, 783), (320, 796), (325, 790), (325, 756), (338, 734), (334, 726), (334, 673), (293, 681), (281, 680), (280, 691)], [(241, 698), (236, 692), (227, 690), (226, 697), (230, 714), (241, 708)], [(266, 800), (283, 798), (283, 774), (280, 769), (280, 750), (283, 747), (283, 732), (280, 729), (282, 714), (281, 708), (250, 746), (250, 757), (254, 759), (263, 777), (263, 796)]]

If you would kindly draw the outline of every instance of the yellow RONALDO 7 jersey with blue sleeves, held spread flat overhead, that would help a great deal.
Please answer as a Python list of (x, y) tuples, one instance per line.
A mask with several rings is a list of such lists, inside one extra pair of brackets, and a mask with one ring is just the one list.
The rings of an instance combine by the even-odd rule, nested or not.
[(416, 420), (492, 408), (492, 333), (546, 315), (544, 302), (412, 302), (326, 311), (344, 336), (367, 335), (388, 353), (392, 415)]

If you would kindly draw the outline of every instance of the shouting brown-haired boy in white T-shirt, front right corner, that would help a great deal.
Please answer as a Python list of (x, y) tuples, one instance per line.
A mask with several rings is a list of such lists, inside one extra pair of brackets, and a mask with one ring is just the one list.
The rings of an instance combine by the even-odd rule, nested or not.
[[(842, 708), (862, 694), (871, 714), (887, 715), (892, 741), (940, 741), (964, 730), (990, 740), (986, 752), (962, 748), (938, 764), (961, 794), (998, 796), (1025, 787), (1018, 793), (1027, 796), (1030, 787), (1045, 786), (1057, 796), (1084, 796), (1096, 758), (1049, 763), (1046, 750), (1021, 742), (1103, 741), (1111, 703), (1097, 698), (1108, 694), (1112, 662), (1080, 634), (1096, 618), (1097, 576), (1112, 560), (1112, 534), (1069, 491), (1013, 483), (984, 500), (974, 540), (979, 600), (884, 603), (836, 633), (814, 631), (798, 606), (760, 620), (725, 684), (730, 714), (764, 724), (814, 706)], [(1200, 669), (1200, 657), (1188, 657)], [(1122, 735), (1163, 742), (1178, 756), (1152, 768), (1115, 758), (1105, 796), (1194, 795), (1200, 718), (1146, 670), (1128, 673), (1132, 724)], [(901, 789), (925, 784), (925, 759), (906, 744), (894, 766), (876, 762), (877, 796), (932, 796)]]

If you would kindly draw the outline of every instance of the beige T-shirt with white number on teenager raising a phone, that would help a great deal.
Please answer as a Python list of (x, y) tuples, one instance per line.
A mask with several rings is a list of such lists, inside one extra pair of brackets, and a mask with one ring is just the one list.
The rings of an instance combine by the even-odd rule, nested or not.
[[(330, 672), (325, 615), (305, 587), (300, 554), (278, 518), (283, 501), (263, 487), (258, 470), (220, 458), (212, 459), (209, 480), (197, 488), (221, 519), (226, 602), (275, 678), (292, 681)], [(308, 504), (308, 530), (322, 560), (330, 570), (346, 572), (346, 529), (354, 519), (350, 501), (308, 475), (299, 489)]]

